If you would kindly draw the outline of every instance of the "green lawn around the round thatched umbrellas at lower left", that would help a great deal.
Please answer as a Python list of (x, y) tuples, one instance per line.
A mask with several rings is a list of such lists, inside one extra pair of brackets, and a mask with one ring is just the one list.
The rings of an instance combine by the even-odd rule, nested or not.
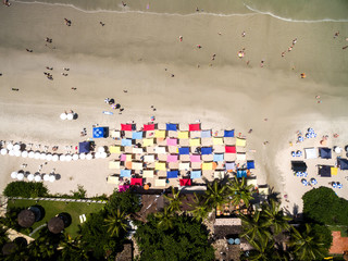
[[(8, 209), (11, 208), (28, 208), (30, 206), (39, 204), (45, 209), (45, 216), (41, 221), (34, 223), (33, 231), (48, 222), (51, 217), (55, 216), (61, 212), (66, 212), (72, 216), (72, 224), (65, 228), (65, 232), (72, 237), (77, 236), (79, 215), (85, 214), (88, 219), (88, 214), (98, 212), (104, 206), (103, 203), (86, 203), (86, 202), (62, 202), (62, 201), (38, 201), (35, 200), (23, 200), (23, 199), (11, 199), (8, 202)], [(32, 235), (36, 238), (38, 232)]]

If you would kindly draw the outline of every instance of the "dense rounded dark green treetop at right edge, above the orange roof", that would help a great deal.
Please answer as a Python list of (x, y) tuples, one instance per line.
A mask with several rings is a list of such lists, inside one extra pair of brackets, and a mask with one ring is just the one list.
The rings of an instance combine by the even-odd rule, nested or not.
[(348, 200), (327, 187), (313, 188), (302, 196), (303, 214), (308, 221), (326, 225), (348, 226)]

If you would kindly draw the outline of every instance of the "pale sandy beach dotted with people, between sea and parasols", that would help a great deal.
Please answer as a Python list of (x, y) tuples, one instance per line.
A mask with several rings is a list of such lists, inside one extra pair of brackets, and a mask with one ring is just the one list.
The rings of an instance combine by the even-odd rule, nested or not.
[[(235, 128), (247, 137), (247, 149), (256, 150), (259, 184), (287, 194), (290, 211), (295, 204), (301, 210), (301, 195), (310, 189), (294, 177), (290, 151), (320, 147), (323, 135), (330, 136), (328, 147), (348, 145), (348, 50), (343, 50), (348, 45), (347, 22), (298, 23), (259, 13), (146, 13), (132, 12), (132, 7), (83, 12), (24, 2), (1, 7), (0, 21), (2, 140), (59, 145), (63, 152), (65, 146), (86, 139), (79, 135), (84, 127), (91, 137), (96, 123), (120, 128), (129, 121), (140, 126), (152, 115), (161, 123), (200, 120), (204, 128)], [(339, 32), (336, 38), (335, 32)], [(245, 57), (239, 59), (244, 48)], [(49, 72), (46, 66), (53, 67), (52, 80), (44, 74)], [(301, 78), (301, 73), (307, 77)], [(124, 108), (122, 114), (102, 113), (110, 110), (103, 102), (107, 97)], [(78, 114), (76, 121), (60, 120), (69, 110)], [(296, 132), (308, 127), (318, 137), (295, 144)], [(248, 134), (250, 128), (253, 132)], [(333, 138), (335, 133), (338, 138)], [(110, 140), (96, 144), (110, 145)], [(42, 172), (55, 169), (61, 175), (47, 184), (51, 192), (69, 192), (80, 184), (89, 196), (110, 194), (108, 161), (49, 162)], [(42, 162), (0, 157), (1, 191), (22, 163), (27, 163), (26, 171), (36, 172)], [(320, 163), (309, 163), (310, 176), (316, 176)], [(347, 172), (339, 172), (334, 179), (344, 185), (337, 195), (348, 198), (345, 176)], [(319, 185), (328, 186), (332, 179), (326, 179)]]

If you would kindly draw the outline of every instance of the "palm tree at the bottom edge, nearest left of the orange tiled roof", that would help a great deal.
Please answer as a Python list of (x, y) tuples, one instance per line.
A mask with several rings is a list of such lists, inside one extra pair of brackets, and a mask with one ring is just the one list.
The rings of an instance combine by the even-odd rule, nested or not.
[(326, 256), (324, 244), (315, 237), (309, 224), (306, 224), (306, 231), (302, 233), (293, 227), (289, 245), (298, 260), (321, 260)]

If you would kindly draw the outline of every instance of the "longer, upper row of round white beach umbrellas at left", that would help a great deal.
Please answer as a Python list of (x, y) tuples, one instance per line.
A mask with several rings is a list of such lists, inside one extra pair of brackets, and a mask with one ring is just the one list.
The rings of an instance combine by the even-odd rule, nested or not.
[[(0, 153), (2, 156), (9, 154), (9, 156), (15, 156), (15, 157), (22, 157), (22, 158), (29, 158), (29, 159), (36, 159), (36, 160), (47, 160), (47, 161), (72, 161), (72, 160), (91, 160), (94, 156), (91, 153), (75, 153), (75, 154), (51, 154), (51, 153), (45, 153), (39, 151), (20, 151), (20, 150), (8, 150), (8, 149), (1, 149)], [(96, 159), (105, 159), (108, 157), (108, 153), (105, 151), (98, 151), (95, 153)]]

